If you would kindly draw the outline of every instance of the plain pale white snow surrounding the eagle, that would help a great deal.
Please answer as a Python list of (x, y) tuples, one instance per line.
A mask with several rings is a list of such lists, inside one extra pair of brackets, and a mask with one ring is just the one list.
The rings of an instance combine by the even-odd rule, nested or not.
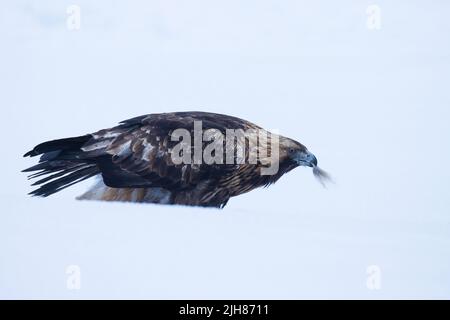
[[(449, 10), (1, 0), (0, 298), (450, 298)], [(299, 168), (224, 210), (27, 196), (34, 145), (181, 110), (279, 129), (336, 184)]]

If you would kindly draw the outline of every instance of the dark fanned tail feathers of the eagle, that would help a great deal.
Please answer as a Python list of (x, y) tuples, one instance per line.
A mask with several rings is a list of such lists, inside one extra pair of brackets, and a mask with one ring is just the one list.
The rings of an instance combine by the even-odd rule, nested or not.
[(23, 172), (35, 172), (28, 178), (44, 176), (34, 182), (38, 189), (30, 192), (33, 196), (47, 197), (75, 183), (91, 178), (100, 173), (93, 159), (83, 154), (81, 147), (91, 138), (90, 135), (59, 139), (41, 143), (24, 156), (42, 155), (39, 163)]

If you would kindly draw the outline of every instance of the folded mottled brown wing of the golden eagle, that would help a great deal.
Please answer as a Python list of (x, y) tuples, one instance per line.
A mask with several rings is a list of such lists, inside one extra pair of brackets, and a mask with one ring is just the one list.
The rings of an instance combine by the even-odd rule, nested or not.
[[(82, 150), (98, 159), (105, 184), (113, 188), (162, 187), (188, 189), (207, 180), (230, 179), (242, 171), (236, 164), (175, 164), (171, 140), (176, 129), (186, 129), (193, 137), (194, 121), (202, 129), (259, 129), (245, 120), (204, 112), (151, 114), (129, 119), (119, 126), (92, 135)], [(204, 146), (202, 146), (203, 150)], [(193, 154), (192, 150), (192, 154)]]

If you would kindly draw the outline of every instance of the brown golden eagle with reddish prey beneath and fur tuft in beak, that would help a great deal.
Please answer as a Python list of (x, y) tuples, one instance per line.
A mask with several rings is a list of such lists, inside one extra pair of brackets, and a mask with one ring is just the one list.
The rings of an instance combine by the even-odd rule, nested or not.
[[(180, 130), (187, 141), (181, 141)], [(208, 112), (144, 115), (93, 134), (41, 143), (24, 156), (38, 155), (39, 163), (24, 172), (37, 171), (29, 178), (41, 177), (33, 183), (39, 188), (30, 194), (43, 197), (98, 176), (78, 199), (223, 208), (231, 197), (268, 186), (298, 166), (328, 178), (301, 143)], [(275, 170), (264, 173), (269, 168)]]

